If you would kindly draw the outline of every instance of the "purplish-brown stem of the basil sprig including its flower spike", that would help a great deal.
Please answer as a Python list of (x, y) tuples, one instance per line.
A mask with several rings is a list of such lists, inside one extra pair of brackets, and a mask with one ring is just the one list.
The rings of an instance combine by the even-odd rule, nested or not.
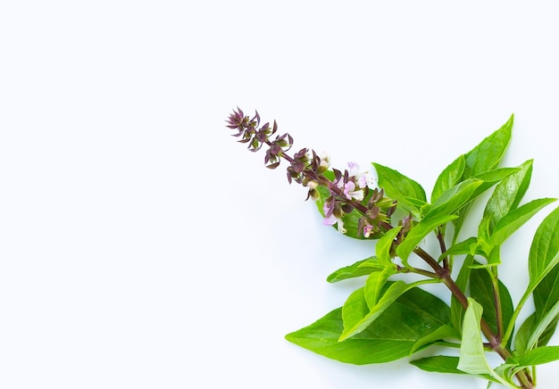
[[(339, 218), (341, 218), (340, 215), (348, 212), (347, 210), (355, 209), (363, 214), (363, 223), (371, 223), (373, 221), (376, 223), (376, 226), (365, 224), (365, 228), (376, 227), (380, 230), (384, 230), (385, 232), (392, 228), (389, 222), (389, 216), (393, 213), (393, 211), (396, 210), (396, 202), (392, 203), (390, 207), (388, 207), (388, 211), (386, 211), (385, 214), (380, 213), (380, 207), (377, 206), (377, 202), (382, 199), (382, 196), (384, 194), (382, 190), (377, 193), (379, 198), (371, 196), (371, 200), (369, 201), (368, 206), (364, 205), (360, 200), (363, 200), (363, 196), (366, 197), (366, 194), (368, 193), (367, 188), (363, 186), (363, 184), (361, 184), (360, 186), (356, 186), (356, 177), (349, 177), (347, 170), (345, 172), (345, 175), (342, 177), (339, 170), (334, 170), (336, 180), (335, 182), (330, 181), (330, 179), (326, 178), (323, 174), (324, 171), (328, 169), (329, 161), (321, 161), (321, 158), (319, 158), (314, 152), (313, 158), (309, 159), (307, 155), (308, 149), (306, 148), (295, 153), (293, 156), (289, 156), (286, 152), (293, 145), (292, 137), (290, 137), (288, 134), (284, 134), (283, 136), (276, 137), (274, 141), (271, 141), (270, 137), (276, 132), (277, 123), (274, 121), (272, 127), (270, 127), (269, 123), (266, 123), (261, 128), (257, 128), (258, 126), (260, 126), (260, 116), (258, 115), (258, 112), (255, 113), (254, 118), (251, 120), (249, 117), (245, 116), (240, 109), (238, 109), (237, 112), (234, 111), (233, 114), (229, 116), (228, 122), (229, 125), (227, 127), (237, 129), (238, 134), (236, 136), (242, 136), (239, 142), (248, 143), (250, 150), (258, 151), (262, 145), (269, 146), (269, 150), (267, 151), (264, 160), (268, 168), (277, 168), (280, 164), (281, 158), (288, 161), (290, 164), (290, 166), (288, 167), (289, 182), (295, 180), (296, 182), (303, 184), (304, 186), (310, 186), (309, 196), (314, 197), (314, 195), (316, 195), (316, 185), (327, 187), (330, 191), (330, 203), (326, 203), (326, 205), (330, 207), (330, 213), (328, 215), (329, 218), (334, 215), (339, 220)], [(311, 185), (312, 181), (314, 182)], [(340, 187), (340, 185), (343, 186), (343, 188)], [(355, 195), (355, 188), (357, 188), (358, 190), (364, 190), (364, 195), (363, 193), (362, 195)], [(360, 198), (360, 200), (358, 200), (357, 198)], [(335, 213), (335, 211), (337, 213)], [(411, 216), (409, 219), (405, 220), (406, 222), (403, 223), (403, 228), (400, 231), (401, 236), (395, 239), (394, 244), (398, 244), (398, 242), (401, 242), (401, 239), (405, 238), (405, 232), (407, 232), (406, 228), (409, 230), (409, 228), (411, 227)], [(458, 231), (455, 230), (453, 242), (455, 242), (456, 240), (457, 232)], [(437, 237), (441, 252), (446, 252), (444, 229), (442, 227), (439, 227), (437, 229)], [(428, 252), (425, 252), (423, 249), (421, 249), (421, 247), (416, 247), (413, 252), (420, 256), (421, 259), (425, 261), (431, 269), (434, 270), (434, 273), (427, 270), (416, 269), (407, 266), (405, 269), (407, 269), (408, 272), (415, 272), (423, 276), (433, 278), (435, 279), (435, 281), (442, 281), (455, 296), (458, 302), (462, 304), (463, 308), (467, 309), (468, 299), (466, 295), (463, 294), (463, 291), (456, 285), (455, 280), (451, 277), (452, 263), (449, 263), (449, 261), (452, 262), (452, 256), (450, 256), (450, 259), (448, 256), (446, 256), (446, 258), (443, 259), (443, 263), (441, 266), (438, 261), (430, 256)], [(496, 273), (494, 277), (491, 277), (491, 279), (496, 307), (497, 334), (493, 333), (493, 330), (488, 326), (488, 323), (484, 319), (480, 320), (480, 327), (483, 335), (485, 335), (488, 339), (490, 348), (498, 355), (500, 355), (503, 360), (506, 360), (512, 354), (506, 349), (505, 346), (503, 346), (503, 317), (501, 312), (498, 287), (499, 285)], [(535, 285), (532, 286), (530, 284), (529, 291), (531, 292), (530, 289), (533, 290), (534, 287)], [(519, 304), (517, 310), (513, 312), (513, 319), (516, 319), (521, 305), (524, 301), (525, 297), (523, 296), (521, 304)], [(511, 333), (512, 329), (509, 326), (505, 333), (506, 340), (508, 340), (508, 337), (511, 335)], [(532, 378), (530, 376), (530, 370), (523, 369), (516, 373), (516, 377), (522, 388), (534, 388)]]

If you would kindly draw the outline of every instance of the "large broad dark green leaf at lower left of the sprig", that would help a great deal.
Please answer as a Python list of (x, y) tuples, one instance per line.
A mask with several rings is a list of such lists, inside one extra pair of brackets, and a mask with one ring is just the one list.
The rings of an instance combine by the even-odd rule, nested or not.
[[(400, 296), (370, 327), (343, 342), (342, 308), (286, 335), (291, 343), (325, 357), (363, 365), (405, 358), (421, 337), (448, 323), (449, 310), (438, 297), (414, 288)], [(399, 326), (394, 326), (394, 323)]]

